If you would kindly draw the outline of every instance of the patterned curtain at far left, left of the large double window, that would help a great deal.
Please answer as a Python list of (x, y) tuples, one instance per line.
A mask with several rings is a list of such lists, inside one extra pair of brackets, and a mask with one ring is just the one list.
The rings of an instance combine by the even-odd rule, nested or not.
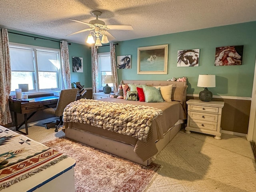
[(0, 29), (0, 124), (12, 122), (8, 97), (11, 93), (11, 59), (7, 29)]

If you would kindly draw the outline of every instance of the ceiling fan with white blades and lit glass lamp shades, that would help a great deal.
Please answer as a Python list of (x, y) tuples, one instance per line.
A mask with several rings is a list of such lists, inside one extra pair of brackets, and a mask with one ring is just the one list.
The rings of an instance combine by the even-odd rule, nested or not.
[[(80, 20), (69, 19), (71, 21), (86, 24), (90, 28), (80, 30), (78, 32), (74, 32), (74, 33), (69, 34), (67, 36), (82, 33), (82, 32), (85, 32), (85, 31), (94, 30), (94, 31), (90, 32), (86, 42), (89, 43), (89, 44), (95, 43), (95, 46), (102, 46), (102, 43), (108, 43), (109, 42), (108, 39), (109, 40), (114, 40), (115, 39), (114, 36), (112, 36), (106, 30), (133, 30), (133, 27), (131, 25), (105, 25), (104, 21), (98, 19), (98, 17), (100, 17), (101, 14), (102, 14), (102, 12), (100, 12), (100, 11), (93, 11), (92, 14), (96, 17), (96, 19), (91, 20), (89, 23), (86, 23), (86, 22), (83, 22), (83, 21), (80, 21)], [(99, 38), (100, 36), (102, 36), (101, 41), (100, 41), (100, 38)], [(96, 42), (94, 40), (94, 37), (96, 37)]]

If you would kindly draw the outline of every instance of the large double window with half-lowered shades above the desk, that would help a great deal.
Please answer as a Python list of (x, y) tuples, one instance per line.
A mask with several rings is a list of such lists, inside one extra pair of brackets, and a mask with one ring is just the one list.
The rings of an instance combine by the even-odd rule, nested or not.
[(29, 92), (60, 90), (60, 50), (10, 43), (12, 87), (28, 84)]

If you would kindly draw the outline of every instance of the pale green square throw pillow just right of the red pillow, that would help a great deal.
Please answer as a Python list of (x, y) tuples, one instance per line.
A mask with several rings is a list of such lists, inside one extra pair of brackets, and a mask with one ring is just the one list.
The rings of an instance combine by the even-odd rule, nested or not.
[(160, 92), (160, 88), (154, 88), (146, 85), (142, 86), (142, 88), (145, 94), (145, 101), (147, 103), (164, 102)]

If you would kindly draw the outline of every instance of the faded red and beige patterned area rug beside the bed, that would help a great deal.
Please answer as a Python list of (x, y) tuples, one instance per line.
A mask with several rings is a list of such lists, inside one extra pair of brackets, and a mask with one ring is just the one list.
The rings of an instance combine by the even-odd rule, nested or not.
[(76, 192), (144, 192), (161, 166), (142, 166), (90, 146), (58, 138), (44, 142), (76, 160)]

